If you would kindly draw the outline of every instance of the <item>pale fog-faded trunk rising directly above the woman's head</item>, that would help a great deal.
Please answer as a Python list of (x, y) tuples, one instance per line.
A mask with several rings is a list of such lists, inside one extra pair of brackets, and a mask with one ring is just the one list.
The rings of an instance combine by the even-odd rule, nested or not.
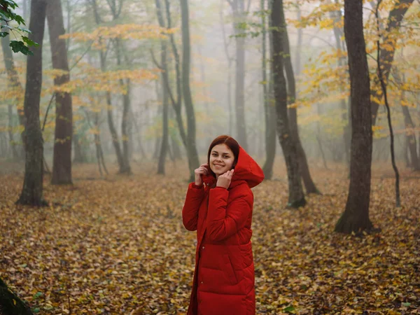
[(232, 11), (235, 29), (236, 44), (236, 68), (235, 68), (235, 111), (237, 141), (245, 150), (248, 149), (246, 142), (246, 119), (245, 119), (245, 37), (241, 36), (241, 22), (244, 22), (244, 0), (232, 0)]

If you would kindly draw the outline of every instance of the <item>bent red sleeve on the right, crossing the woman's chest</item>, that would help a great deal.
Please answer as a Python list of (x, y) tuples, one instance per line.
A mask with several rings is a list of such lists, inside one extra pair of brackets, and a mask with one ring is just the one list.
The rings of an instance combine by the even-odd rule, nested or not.
[(216, 187), (210, 190), (209, 211), (207, 212), (207, 233), (209, 239), (222, 241), (244, 228), (251, 214), (253, 194), (239, 195), (228, 204), (229, 191)]

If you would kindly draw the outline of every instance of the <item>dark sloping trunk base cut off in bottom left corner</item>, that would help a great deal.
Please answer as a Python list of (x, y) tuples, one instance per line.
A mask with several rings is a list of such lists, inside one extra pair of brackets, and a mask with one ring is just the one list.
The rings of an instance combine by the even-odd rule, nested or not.
[(27, 303), (20, 300), (7, 284), (0, 279), (0, 314), (1, 315), (33, 315)]

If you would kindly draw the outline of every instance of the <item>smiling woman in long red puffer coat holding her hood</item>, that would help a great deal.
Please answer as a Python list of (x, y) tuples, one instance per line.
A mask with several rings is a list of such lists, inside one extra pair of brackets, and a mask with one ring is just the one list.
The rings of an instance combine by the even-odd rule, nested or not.
[(182, 210), (197, 230), (193, 292), (188, 315), (255, 314), (251, 248), (253, 193), (262, 169), (229, 136), (214, 139), (207, 163), (195, 169)]

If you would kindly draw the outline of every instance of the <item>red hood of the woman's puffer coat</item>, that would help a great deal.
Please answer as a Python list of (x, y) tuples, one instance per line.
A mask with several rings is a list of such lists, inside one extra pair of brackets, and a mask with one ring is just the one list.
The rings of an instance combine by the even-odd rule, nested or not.
[[(262, 172), (260, 165), (258, 165), (241, 146), (239, 146), (238, 162), (235, 166), (235, 172), (233, 172), (229, 188), (233, 188), (244, 181), (246, 181), (249, 188), (253, 188), (261, 183), (263, 179), (264, 173)], [(216, 183), (216, 178), (212, 175), (207, 175), (203, 177), (203, 181), (207, 186), (212, 186)]]

